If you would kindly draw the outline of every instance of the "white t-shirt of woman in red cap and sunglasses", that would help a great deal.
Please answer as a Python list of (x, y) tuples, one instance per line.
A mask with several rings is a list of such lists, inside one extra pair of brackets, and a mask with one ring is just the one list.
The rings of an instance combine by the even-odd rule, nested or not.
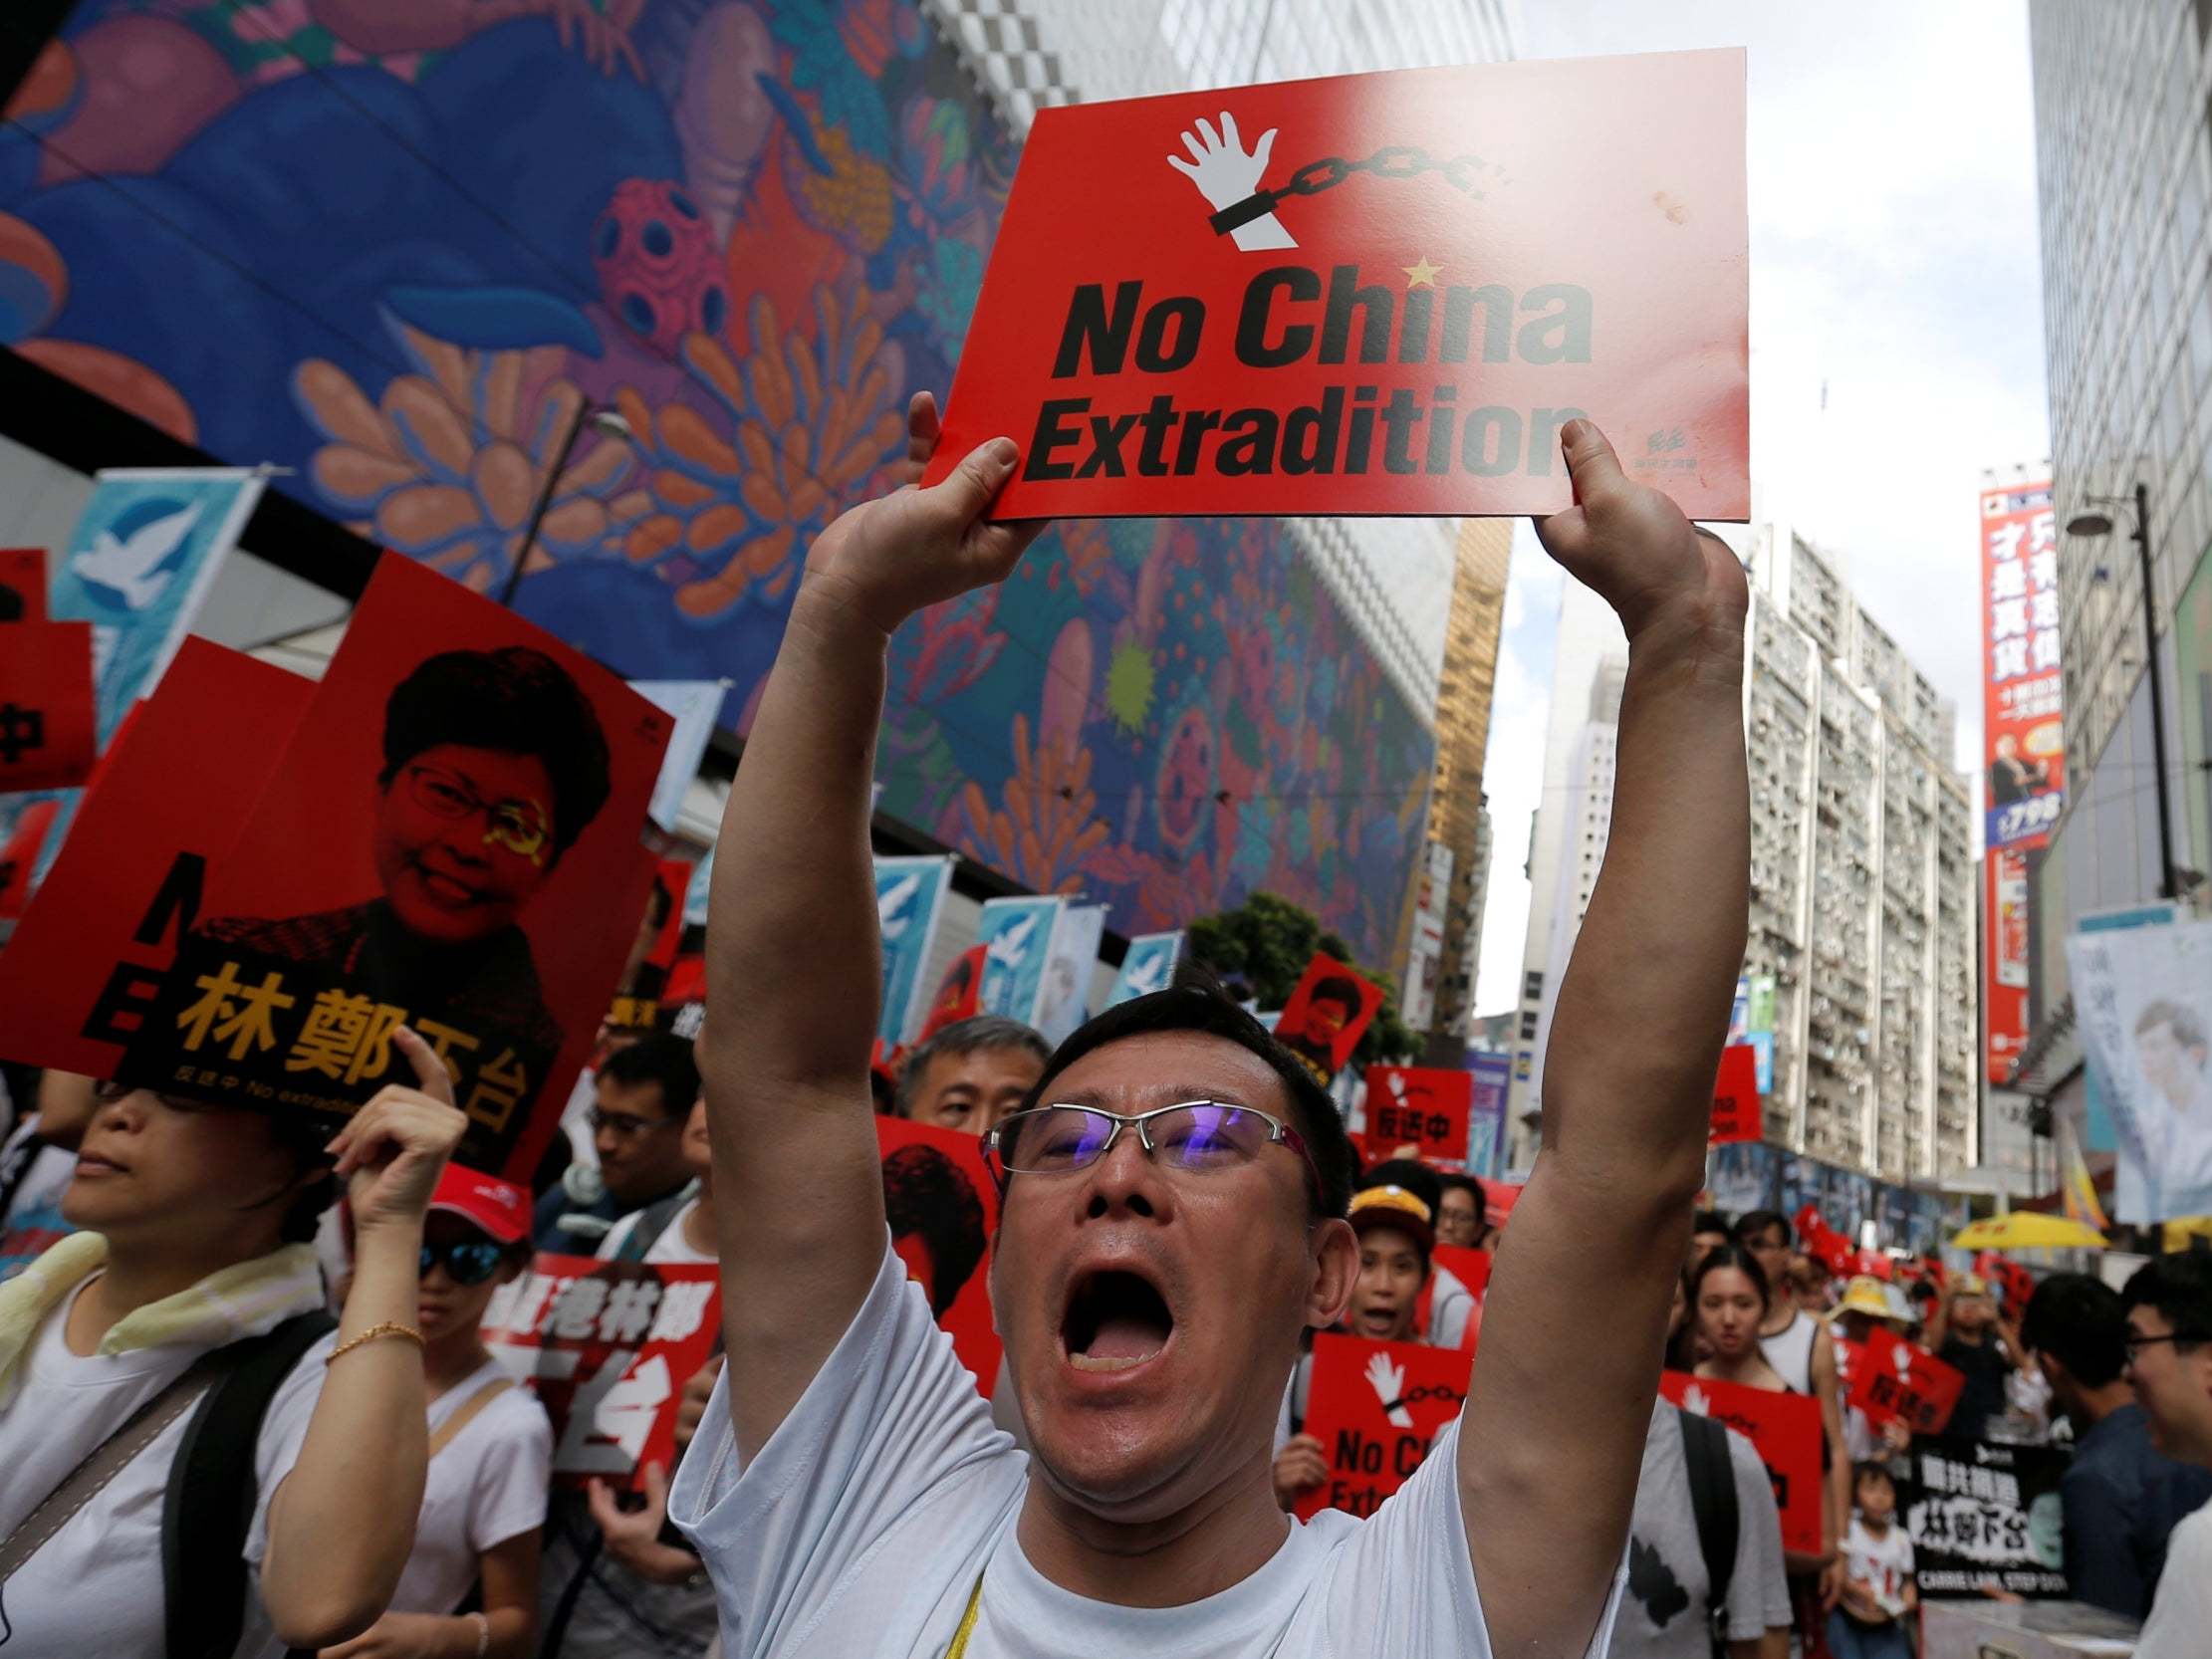
[[(498, 1360), (456, 1383), (429, 1407), (429, 1431), (507, 1376)], [(546, 1486), (553, 1482), (553, 1425), (538, 1396), (511, 1387), (469, 1418), (469, 1425), (429, 1460), (416, 1546), (392, 1597), (394, 1613), (451, 1613), (476, 1584), (478, 1557), (495, 1544), (546, 1524)], [(0, 1648), (4, 1655), (7, 1648)]]

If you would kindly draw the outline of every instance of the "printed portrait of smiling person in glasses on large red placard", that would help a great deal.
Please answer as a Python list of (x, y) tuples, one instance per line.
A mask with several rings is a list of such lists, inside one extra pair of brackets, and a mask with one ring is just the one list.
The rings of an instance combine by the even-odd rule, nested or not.
[(518, 918), (599, 816), (608, 750), (568, 670), (526, 646), (445, 650), (385, 701), (369, 847), (376, 898), (201, 931), (336, 969), (354, 995), (460, 1026), (498, 1053), (557, 1053)]

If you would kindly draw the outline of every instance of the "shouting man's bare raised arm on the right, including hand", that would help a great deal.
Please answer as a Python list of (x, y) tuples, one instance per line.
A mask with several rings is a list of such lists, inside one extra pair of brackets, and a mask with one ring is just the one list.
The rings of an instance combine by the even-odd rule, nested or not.
[(1613, 836), (1544, 1057), (1544, 1144), (1482, 1310), (1460, 1500), (1500, 1659), (1582, 1655), (1619, 1568), (1743, 967), (1743, 568), (1588, 420), (1551, 555), (1628, 630)]

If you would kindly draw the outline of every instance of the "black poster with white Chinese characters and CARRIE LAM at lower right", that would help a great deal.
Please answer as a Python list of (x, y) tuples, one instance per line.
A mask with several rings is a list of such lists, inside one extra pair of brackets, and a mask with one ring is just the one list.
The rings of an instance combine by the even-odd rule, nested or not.
[(1898, 1482), (1920, 1595), (2066, 1599), (2066, 1451), (1924, 1440)]

